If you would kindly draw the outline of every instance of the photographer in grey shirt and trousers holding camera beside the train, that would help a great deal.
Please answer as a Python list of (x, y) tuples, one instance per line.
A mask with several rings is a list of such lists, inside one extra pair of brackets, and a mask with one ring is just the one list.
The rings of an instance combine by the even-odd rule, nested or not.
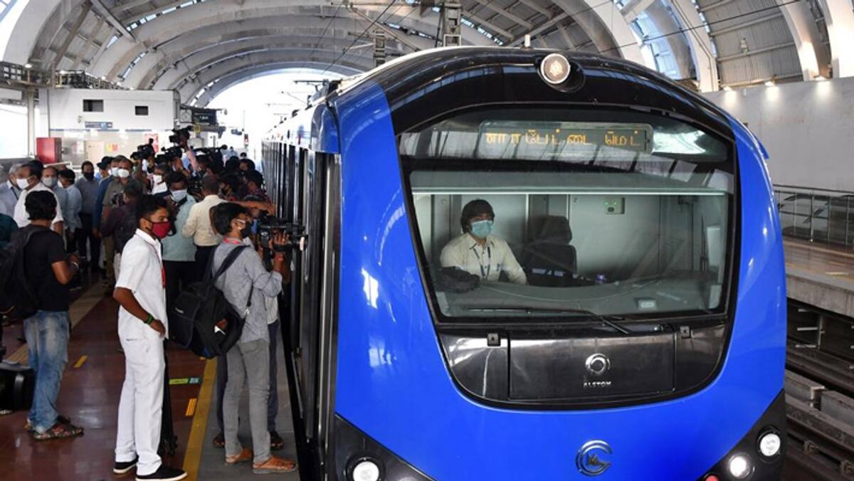
[[(236, 203), (219, 204), (213, 211), (213, 224), (223, 236), (213, 252), (211, 269), (219, 265), (233, 249), (248, 245), (252, 217), (247, 208)], [(295, 462), (283, 460), (270, 453), (270, 432), (267, 431), (267, 409), (270, 396), (270, 336), (267, 328), (267, 298), (276, 298), (282, 291), (284, 276), (290, 270), (284, 256), (288, 238), (284, 232), (272, 235), (267, 249), (275, 252), (272, 272), (267, 272), (260, 256), (253, 249), (244, 249), (228, 270), (217, 279), (219, 290), (238, 312), (245, 316), (243, 333), (237, 344), (225, 355), (228, 380), (225, 383), (223, 416), (225, 431), (225, 463), (236, 465), (253, 460), (253, 472), (291, 472)], [(254, 453), (241, 446), (237, 439), (240, 393), (244, 381), (249, 384), (249, 423)]]

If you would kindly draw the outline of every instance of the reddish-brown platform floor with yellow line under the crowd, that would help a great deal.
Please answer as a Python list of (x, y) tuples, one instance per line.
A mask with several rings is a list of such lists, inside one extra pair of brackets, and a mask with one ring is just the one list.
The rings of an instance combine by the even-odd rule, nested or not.
[[(72, 332), (68, 363), (57, 404), (61, 414), (85, 429), (73, 439), (38, 442), (24, 430), (26, 412), (0, 416), (0, 478), (6, 481), (133, 479), (134, 471), (114, 476), (114, 446), (121, 384), (125, 376), (117, 327), (118, 304), (104, 296), (100, 281), (79, 292), (71, 305)], [(4, 328), (7, 360), (26, 364), (26, 343), (21, 342), (20, 323)], [(281, 345), (281, 343), (279, 343)], [(167, 348), (171, 379), (173, 429), (178, 437), (175, 455), (163, 461), (182, 467), (187, 479), (226, 480), (254, 478), (251, 464), (225, 466), (225, 451), (213, 447), (219, 432), (215, 418), (216, 361), (193, 355), (189, 350)], [(285, 440), (274, 455), (295, 460), (290, 416), (290, 396), (284, 375), (281, 348), (279, 360), (279, 411), (277, 427)], [(241, 419), (249, 419), (247, 396), (241, 401)], [(251, 447), (249, 423), (241, 423), (241, 441)], [(277, 479), (299, 479), (292, 472)]]

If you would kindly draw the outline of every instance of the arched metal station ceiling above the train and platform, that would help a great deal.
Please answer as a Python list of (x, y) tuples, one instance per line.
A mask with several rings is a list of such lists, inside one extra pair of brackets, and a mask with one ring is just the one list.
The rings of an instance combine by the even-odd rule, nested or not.
[[(436, 46), (436, 0), (0, 0), (3, 61), (184, 103), (266, 71), (373, 67)], [(462, 0), (463, 44), (621, 56), (700, 91), (854, 75), (851, 0)], [(5, 42), (3, 42), (5, 40)], [(838, 47), (835, 48), (834, 47)], [(845, 50), (852, 50), (850, 53)]]

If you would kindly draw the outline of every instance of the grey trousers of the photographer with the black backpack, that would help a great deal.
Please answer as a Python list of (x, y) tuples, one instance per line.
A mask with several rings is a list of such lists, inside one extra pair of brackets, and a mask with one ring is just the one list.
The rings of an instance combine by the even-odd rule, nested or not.
[(254, 463), (270, 459), (270, 432), (266, 430), (267, 397), (270, 396), (270, 343), (259, 339), (237, 343), (228, 354), (228, 382), (223, 398), (225, 455), (240, 454), (243, 446), (237, 439), (238, 411), (243, 383), (249, 384), (249, 425), (252, 428)]

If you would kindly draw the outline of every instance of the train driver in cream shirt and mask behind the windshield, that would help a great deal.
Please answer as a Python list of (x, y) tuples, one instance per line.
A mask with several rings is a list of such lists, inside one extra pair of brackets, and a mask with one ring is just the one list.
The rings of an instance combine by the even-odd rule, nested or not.
[(522, 266), (506, 241), (492, 235), (495, 213), (489, 202), (476, 199), (463, 208), (463, 233), (442, 249), (442, 267), (458, 267), (482, 280), (497, 281), (501, 273), (514, 284), (527, 284)]

